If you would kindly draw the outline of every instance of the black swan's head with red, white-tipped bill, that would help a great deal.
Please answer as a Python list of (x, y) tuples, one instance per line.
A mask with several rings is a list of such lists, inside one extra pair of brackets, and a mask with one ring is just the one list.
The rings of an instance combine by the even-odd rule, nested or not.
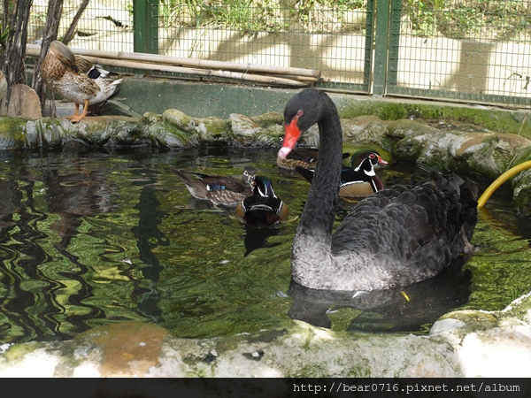
[(284, 142), (278, 157), (281, 159), (288, 157), (299, 137), (317, 123), (327, 109), (330, 109), (327, 107), (329, 103), (331, 100), (327, 94), (314, 88), (304, 89), (288, 101), (284, 108)]

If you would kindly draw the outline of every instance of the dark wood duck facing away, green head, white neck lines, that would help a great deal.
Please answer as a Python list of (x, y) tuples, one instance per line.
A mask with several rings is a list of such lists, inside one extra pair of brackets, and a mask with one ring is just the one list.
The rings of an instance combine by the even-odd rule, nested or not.
[(274, 194), (271, 180), (257, 176), (253, 185), (252, 194), (236, 206), (236, 216), (255, 228), (274, 226), (288, 218), (288, 205)]

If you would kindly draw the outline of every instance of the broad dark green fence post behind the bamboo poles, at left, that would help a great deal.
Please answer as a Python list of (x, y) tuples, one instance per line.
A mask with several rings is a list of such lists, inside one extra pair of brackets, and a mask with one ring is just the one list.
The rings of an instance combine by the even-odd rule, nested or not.
[(158, 0), (133, 0), (134, 50), (158, 54)]

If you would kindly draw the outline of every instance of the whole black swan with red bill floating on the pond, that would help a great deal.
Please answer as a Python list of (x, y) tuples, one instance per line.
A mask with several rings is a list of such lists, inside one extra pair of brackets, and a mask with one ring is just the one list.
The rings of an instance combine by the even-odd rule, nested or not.
[(441, 272), (472, 250), (477, 187), (458, 175), (367, 196), (334, 234), (342, 170), (342, 128), (329, 96), (308, 88), (284, 110), (287, 157), (299, 136), (319, 126), (319, 159), (291, 249), (291, 276), (314, 289), (352, 291), (407, 286)]

